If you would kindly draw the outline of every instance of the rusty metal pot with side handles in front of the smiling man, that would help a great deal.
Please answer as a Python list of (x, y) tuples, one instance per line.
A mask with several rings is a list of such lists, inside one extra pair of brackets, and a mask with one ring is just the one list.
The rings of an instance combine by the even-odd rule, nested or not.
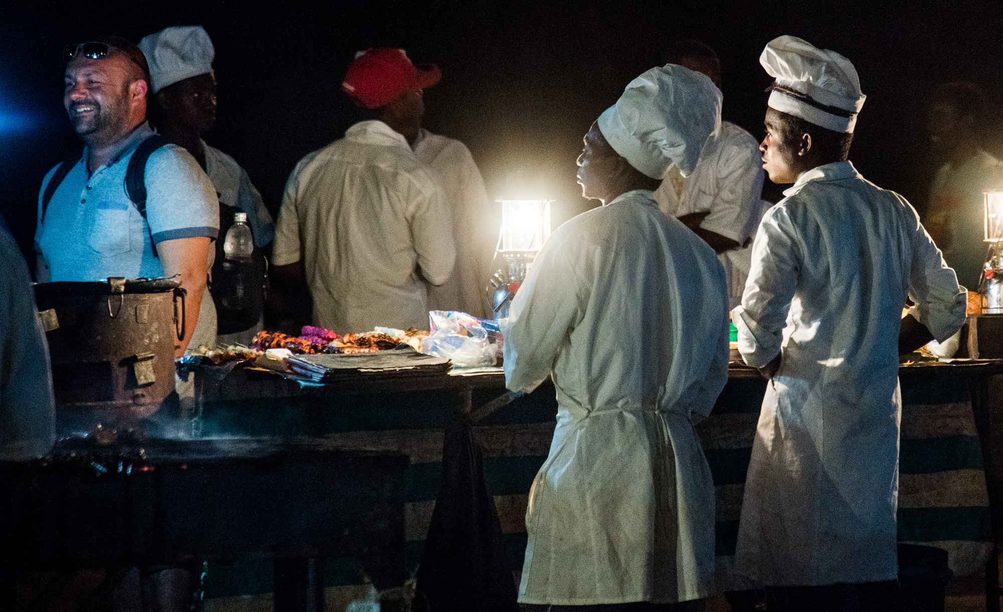
[(123, 278), (35, 285), (57, 411), (129, 421), (160, 407), (175, 388), (175, 344), (185, 329), (179, 285)]

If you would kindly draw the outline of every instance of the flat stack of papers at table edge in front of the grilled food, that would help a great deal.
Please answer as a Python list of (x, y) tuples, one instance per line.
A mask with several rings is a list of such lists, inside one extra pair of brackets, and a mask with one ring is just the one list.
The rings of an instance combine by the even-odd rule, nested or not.
[(352, 355), (293, 355), (285, 363), (292, 373), (324, 383), (369, 377), (442, 375), (452, 366), (448, 359), (423, 355), (410, 346)]

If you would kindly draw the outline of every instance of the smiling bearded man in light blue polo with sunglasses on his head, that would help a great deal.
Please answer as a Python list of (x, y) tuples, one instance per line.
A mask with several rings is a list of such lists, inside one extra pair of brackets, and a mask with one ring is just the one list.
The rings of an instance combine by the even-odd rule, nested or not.
[[(63, 105), (85, 146), (42, 183), (38, 280), (180, 274), (189, 312), (181, 356), (216, 334), (213, 301), (203, 300), (210, 243), (219, 232), (216, 190), (187, 150), (151, 139), (149, 68), (138, 47), (107, 36), (67, 47), (63, 59)], [(130, 184), (130, 161), (143, 156)]]

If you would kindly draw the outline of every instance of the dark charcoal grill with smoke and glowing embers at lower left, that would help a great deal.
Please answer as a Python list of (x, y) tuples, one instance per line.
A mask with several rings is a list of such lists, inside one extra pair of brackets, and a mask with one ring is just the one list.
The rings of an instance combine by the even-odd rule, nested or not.
[[(0, 584), (104, 568), (106, 593), (121, 568), (269, 556), (276, 610), (305, 612), (322, 607), (319, 560), (354, 556), (376, 588), (398, 588), (407, 465), (323, 440), (64, 440), (45, 461), (0, 467), (11, 501), (0, 505)], [(13, 611), (5, 595), (0, 610)]]

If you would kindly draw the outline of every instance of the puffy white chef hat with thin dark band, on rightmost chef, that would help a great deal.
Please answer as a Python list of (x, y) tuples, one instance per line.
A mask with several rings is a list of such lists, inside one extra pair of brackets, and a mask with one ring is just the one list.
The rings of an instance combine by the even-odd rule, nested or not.
[(769, 41), (759, 63), (776, 79), (768, 105), (832, 131), (853, 133), (864, 107), (861, 80), (850, 60), (795, 36)]

